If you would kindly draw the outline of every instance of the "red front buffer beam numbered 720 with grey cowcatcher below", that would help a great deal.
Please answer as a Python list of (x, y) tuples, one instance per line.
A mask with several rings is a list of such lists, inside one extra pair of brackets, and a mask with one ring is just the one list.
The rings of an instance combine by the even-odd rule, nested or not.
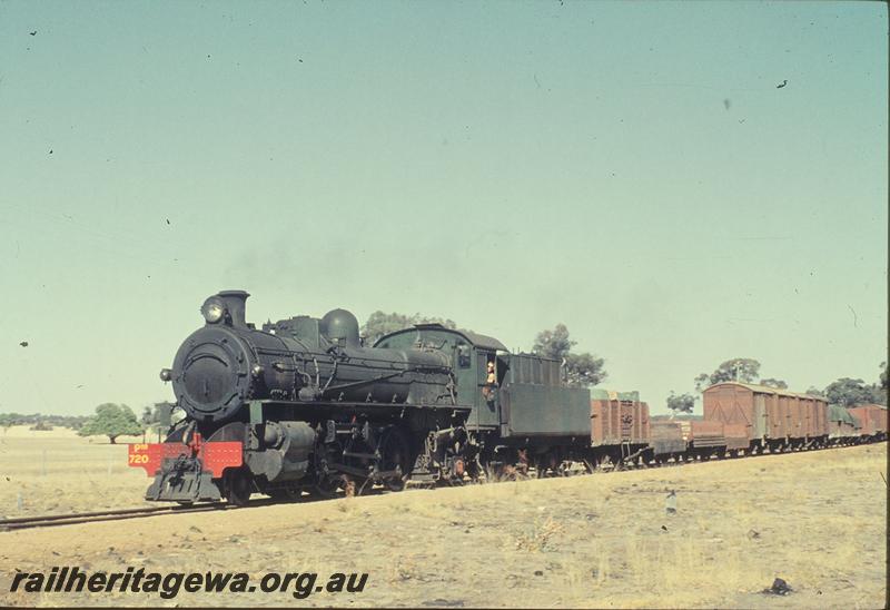
[(196, 433), (189, 443), (136, 443), (129, 445), (128, 464), (141, 468), (155, 481), (146, 500), (191, 503), (218, 502), (217, 482), (226, 469), (238, 469), (244, 446), (239, 441), (205, 442)]

